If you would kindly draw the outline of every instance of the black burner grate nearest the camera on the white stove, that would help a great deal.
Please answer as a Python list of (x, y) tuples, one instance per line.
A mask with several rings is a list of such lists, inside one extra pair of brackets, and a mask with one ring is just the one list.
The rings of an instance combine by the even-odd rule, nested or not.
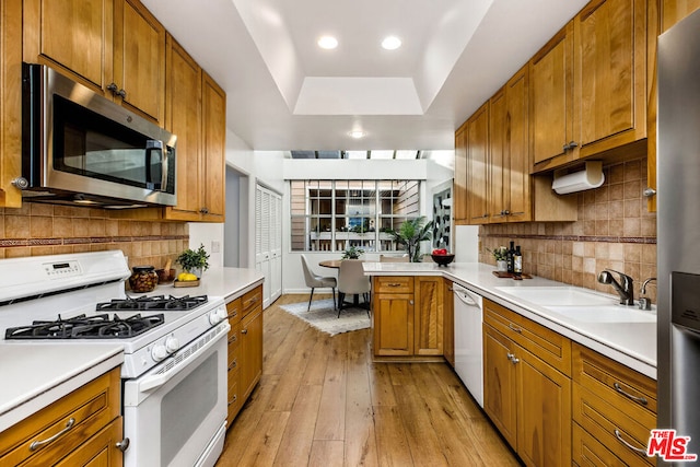
[(163, 314), (120, 318), (116, 314), (79, 315), (54, 322), (35, 320), (30, 326), (8, 328), (5, 339), (127, 339), (145, 332), (165, 322)]

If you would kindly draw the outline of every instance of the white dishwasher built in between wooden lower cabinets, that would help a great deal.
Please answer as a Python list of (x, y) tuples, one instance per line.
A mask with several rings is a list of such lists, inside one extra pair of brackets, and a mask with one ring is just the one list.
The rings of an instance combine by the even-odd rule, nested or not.
[(455, 371), (483, 408), (483, 347), (481, 335), (482, 299), (454, 284)]

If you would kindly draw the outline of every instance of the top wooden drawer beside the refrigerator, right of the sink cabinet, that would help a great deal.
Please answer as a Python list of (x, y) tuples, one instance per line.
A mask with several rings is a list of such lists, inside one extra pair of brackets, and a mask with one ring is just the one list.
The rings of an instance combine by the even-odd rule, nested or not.
[(656, 382), (588, 348), (573, 345), (573, 381), (626, 413), (653, 416), (655, 428)]

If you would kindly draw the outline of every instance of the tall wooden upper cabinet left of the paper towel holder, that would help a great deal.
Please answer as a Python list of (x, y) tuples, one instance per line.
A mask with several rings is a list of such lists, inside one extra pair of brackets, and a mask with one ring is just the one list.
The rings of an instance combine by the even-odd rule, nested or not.
[[(457, 130), (457, 215), (465, 215), (466, 224), (576, 220), (574, 197), (553, 194), (551, 175), (529, 174), (528, 77), (523, 67)], [(463, 176), (464, 195), (458, 188)]]

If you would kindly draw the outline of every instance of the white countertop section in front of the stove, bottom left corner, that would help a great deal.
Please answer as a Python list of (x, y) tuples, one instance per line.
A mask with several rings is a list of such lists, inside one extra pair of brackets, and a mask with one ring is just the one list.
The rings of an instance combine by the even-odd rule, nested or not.
[(119, 343), (0, 342), (0, 432), (124, 361)]

